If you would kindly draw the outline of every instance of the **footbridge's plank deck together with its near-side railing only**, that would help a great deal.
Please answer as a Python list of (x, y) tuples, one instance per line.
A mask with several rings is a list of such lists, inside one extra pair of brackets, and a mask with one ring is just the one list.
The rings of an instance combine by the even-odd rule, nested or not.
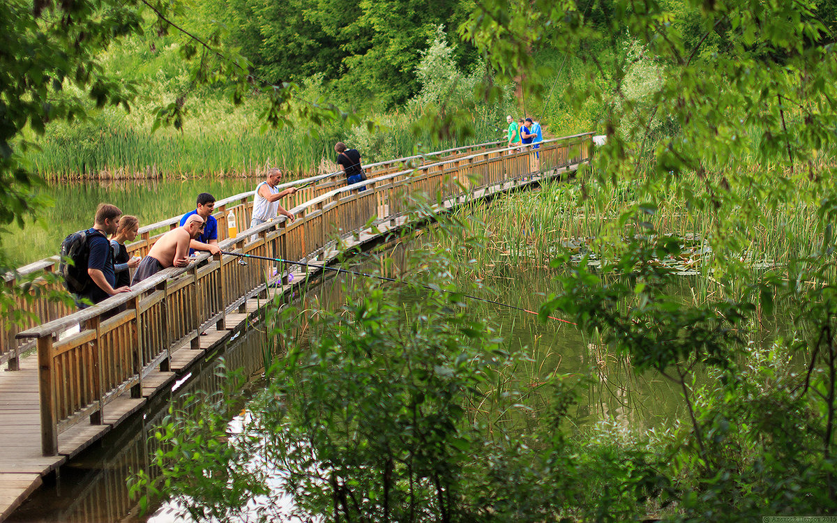
[[(434, 208), (444, 213), (466, 200), (575, 171), (588, 159), (583, 147), (589, 136), (582, 138), (554, 146), (557, 160), (541, 173), (530, 171), (526, 152), (506, 156), (486, 152), (483, 163), (472, 156), (456, 158), (452, 167), (444, 163), (423, 167), (422, 176), (410, 171), (370, 179), (365, 183), (372, 190), (365, 192), (335, 189), (293, 208), (299, 218), (292, 225), (265, 223), (219, 244), (228, 251), (328, 264), (345, 250), (377, 241), (411, 219), (427, 218), (405, 212), (403, 192), (396, 193), (397, 187), (441, 195)], [(571, 151), (579, 152), (573, 156)], [(544, 146), (542, 159), (549, 153)], [(468, 186), (470, 174), (482, 165), (487, 182), (463, 193), (461, 187)], [(383, 219), (370, 227), (372, 215)], [(326, 238), (326, 225), (339, 233), (336, 241)], [(199, 259), (203, 264), (167, 269), (169, 274), (149, 280), (149, 285), (105, 300), (103, 304), (110, 305), (101, 312), (91, 307), (18, 334), (37, 338), (38, 344), (37, 349), (30, 346), (28, 352), (15, 355), (14, 364), (9, 364), (13, 370), (0, 371), (0, 521), (42, 484), (44, 476), (140, 411), (149, 398), (171, 390), (214, 347), (246, 328), (249, 316), (260, 314), (259, 307), (270, 302), (267, 298), (290, 292), (303, 285), (306, 275), (317, 273), (306, 274), (306, 269), (297, 267), (293, 283), (283, 285), (276, 275), (265, 282), (264, 269), (270, 266), (250, 262), (242, 269), (235, 261), (228, 255), (204, 255)], [(100, 319), (100, 314), (123, 304), (128, 309), (114, 319)], [(87, 323), (79, 334), (61, 336), (75, 316), (81, 322), (93, 320), (93, 326)], [(75, 325), (79, 323), (75, 320)], [(94, 361), (83, 361), (85, 357)], [(90, 369), (100, 377), (87, 376)], [(85, 379), (99, 388), (92, 403), (88, 389), (94, 387), (85, 386)], [(87, 418), (90, 423), (85, 423)]]

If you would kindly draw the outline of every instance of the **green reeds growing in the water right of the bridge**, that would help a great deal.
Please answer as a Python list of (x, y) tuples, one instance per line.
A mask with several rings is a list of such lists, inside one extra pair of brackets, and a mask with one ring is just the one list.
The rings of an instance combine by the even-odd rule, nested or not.
[[(679, 270), (692, 270), (698, 278), (696, 300), (715, 289), (712, 278), (723, 264), (735, 263), (756, 274), (765, 269), (783, 274), (788, 264), (822, 244), (824, 231), (817, 216), (818, 183), (794, 178), (793, 197), (776, 203), (766, 193), (779, 194), (787, 181), (776, 179), (751, 192), (735, 195), (720, 208), (687, 205), (684, 195), (701, 192), (705, 182), (693, 174), (670, 182), (670, 197), (655, 202), (652, 213), (639, 211), (648, 203), (640, 181), (601, 183), (579, 176), (570, 182), (547, 182), (536, 191), (498, 197), (490, 205), (469, 205), (455, 217), (471, 234), (485, 233), (485, 243), (459, 245), (454, 238), (439, 241), (460, 248), (465, 259), (480, 268), (477, 277), (496, 274), (511, 264), (521, 268), (547, 268), (556, 256), (568, 252), (580, 258), (613, 259), (624, 238), (653, 231), (686, 238)], [(625, 220), (628, 213), (630, 219)], [(731, 289), (741, 288), (739, 281)]]

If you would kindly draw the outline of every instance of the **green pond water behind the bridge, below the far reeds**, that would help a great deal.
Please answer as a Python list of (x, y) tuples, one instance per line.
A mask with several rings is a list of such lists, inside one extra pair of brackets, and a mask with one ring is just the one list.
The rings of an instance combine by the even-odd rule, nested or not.
[(37, 222), (27, 221), (23, 228), (8, 226), (3, 233), (3, 249), (17, 267), (58, 254), (61, 240), (93, 225), (96, 206), (112, 203), (122, 213), (140, 218), (140, 226), (187, 213), (195, 208), (201, 192), (216, 199), (252, 191), (259, 178), (183, 178), (157, 180), (115, 180), (113, 182), (80, 182), (36, 187), (35, 197), (51, 207), (39, 212)]

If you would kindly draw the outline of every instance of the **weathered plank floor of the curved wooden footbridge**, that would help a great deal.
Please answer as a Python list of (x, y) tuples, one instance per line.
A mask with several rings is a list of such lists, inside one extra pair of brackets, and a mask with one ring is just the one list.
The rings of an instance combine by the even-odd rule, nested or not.
[[(577, 166), (556, 170), (552, 175), (574, 171), (575, 167)], [(485, 187), (473, 192), (468, 199), (506, 192), (540, 179), (541, 177), (529, 177), (525, 182), (516, 180)], [(459, 197), (446, 201), (436, 206), (435, 211), (444, 213), (462, 201), (464, 199)], [(379, 215), (386, 216), (387, 213)], [(407, 222), (408, 217), (402, 216), (381, 223), (375, 228), (350, 234), (342, 240), (341, 249), (321, 253), (318, 259), (311, 260), (311, 263), (328, 264), (343, 250), (375, 241), (390, 231), (402, 228)], [(141, 410), (149, 398), (163, 390), (171, 390), (172, 385), (178, 378), (186, 375), (190, 367), (202, 361), (207, 354), (212, 354), (213, 349), (226, 342), (235, 331), (246, 328), (250, 315), (259, 314), (275, 295), (291, 292), (296, 286), (302, 285), (306, 276), (304, 268), (297, 267), (292, 274), (294, 278), (291, 285), (273, 285), (268, 289), (266, 298), (251, 298), (239, 308), (239, 312), (228, 312), (225, 318), (227, 328), (219, 331), (213, 324), (200, 333), (199, 349), (193, 348), (190, 341), (184, 341), (181, 346), (172, 348), (171, 371), (162, 372), (157, 369), (144, 377), (141, 397), (132, 398), (130, 392), (125, 392), (108, 404), (101, 424), (78, 423), (59, 433), (59, 453), (56, 456), (42, 455), (37, 354), (21, 357), (19, 371), (0, 372), (0, 439), (3, 440), (3, 448), (0, 449), (0, 521), (5, 520), (42, 484), (45, 475), (89, 447), (131, 414)]]

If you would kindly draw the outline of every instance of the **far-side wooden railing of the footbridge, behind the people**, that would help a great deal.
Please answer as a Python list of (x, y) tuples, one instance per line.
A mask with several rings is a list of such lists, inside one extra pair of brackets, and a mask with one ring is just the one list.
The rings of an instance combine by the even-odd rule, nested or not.
[[(391, 172), (401, 171), (408, 165), (421, 166), (424, 163), (439, 161), (439, 159), (444, 160), (458, 156), (467, 156), (475, 151), (488, 151), (500, 143), (498, 141), (492, 141), (473, 146), (455, 147), (453, 149), (434, 152), (432, 156), (408, 156), (406, 158), (388, 160), (387, 162), (372, 163), (365, 167), (367, 168), (368, 176), (377, 177)], [(283, 206), (285, 208), (293, 208), (314, 197), (330, 192), (337, 187), (343, 187), (346, 183), (346, 177), (342, 172), (332, 172), (326, 175), (307, 177), (301, 180), (283, 183), (279, 187), (284, 189), (285, 187), (306, 185), (309, 182), (314, 183), (302, 188), (293, 196), (285, 197), (282, 201)], [(233, 213), (239, 231), (249, 227), (253, 209), (252, 199), (253, 191), (249, 191), (223, 198), (223, 200), (215, 203), (213, 216), (218, 220), (219, 240), (226, 239), (229, 236), (229, 213)], [(140, 228), (138, 239), (127, 246), (128, 253), (145, 256), (148, 250), (151, 249), (151, 245), (157, 241), (157, 238), (160, 238), (168, 230), (178, 226), (180, 218), (181, 216), (175, 216)], [(42, 271), (52, 273), (58, 268), (59, 261), (58, 256), (53, 256), (21, 267), (18, 269), (17, 274), (6, 274), (5, 285), (8, 287), (19, 285), (20, 279), (26, 279), (29, 275), (40, 274)], [(34, 347), (33, 341), (15, 338), (19, 331), (38, 326), (47, 321), (63, 318), (76, 310), (74, 303), (70, 300), (60, 302), (59, 300), (49, 298), (49, 293), (56, 292), (66, 295), (66, 291), (62, 285), (41, 285), (39, 286), (37, 295), (34, 292), (30, 292), (26, 296), (18, 297), (14, 307), (17, 310), (18, 317), (0, 317), (0, 365), (7, 363), (8, 370), (18, 370), (18, 358), (20, 354)]]

